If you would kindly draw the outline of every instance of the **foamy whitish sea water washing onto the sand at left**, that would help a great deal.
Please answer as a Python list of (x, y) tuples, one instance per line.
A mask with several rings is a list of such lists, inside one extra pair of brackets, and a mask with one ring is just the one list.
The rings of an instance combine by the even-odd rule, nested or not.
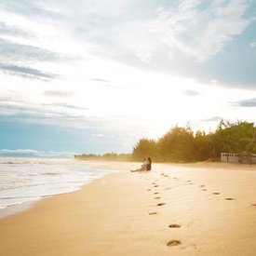
[(0, 218), (21, 204), (79, 190), (106, 173), (75, 159), (0, 157)]

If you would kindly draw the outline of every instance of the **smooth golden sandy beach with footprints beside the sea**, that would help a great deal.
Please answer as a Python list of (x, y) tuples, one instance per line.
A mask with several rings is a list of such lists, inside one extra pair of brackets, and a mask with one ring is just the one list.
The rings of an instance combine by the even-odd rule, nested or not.
[(139, 166), (0, 220), (1, 255), (256, 255), (255, 165)]

